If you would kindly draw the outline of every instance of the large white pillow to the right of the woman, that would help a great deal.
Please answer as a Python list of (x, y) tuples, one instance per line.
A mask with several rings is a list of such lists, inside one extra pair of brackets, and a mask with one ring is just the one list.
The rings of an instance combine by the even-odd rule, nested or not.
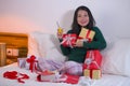
[(103, 73), (130, 76), (130, 39), (109, 42), (103, 57)]

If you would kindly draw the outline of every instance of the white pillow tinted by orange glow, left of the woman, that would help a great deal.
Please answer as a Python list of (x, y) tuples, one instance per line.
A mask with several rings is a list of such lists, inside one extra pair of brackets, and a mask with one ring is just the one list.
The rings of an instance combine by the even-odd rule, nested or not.
[(65, 61), (65, 56), (61, 53), (60, 41), (53, 34), (42, 32), (32, 32), (28, 37), (28, 55), (35, 55), (38, 58)]

